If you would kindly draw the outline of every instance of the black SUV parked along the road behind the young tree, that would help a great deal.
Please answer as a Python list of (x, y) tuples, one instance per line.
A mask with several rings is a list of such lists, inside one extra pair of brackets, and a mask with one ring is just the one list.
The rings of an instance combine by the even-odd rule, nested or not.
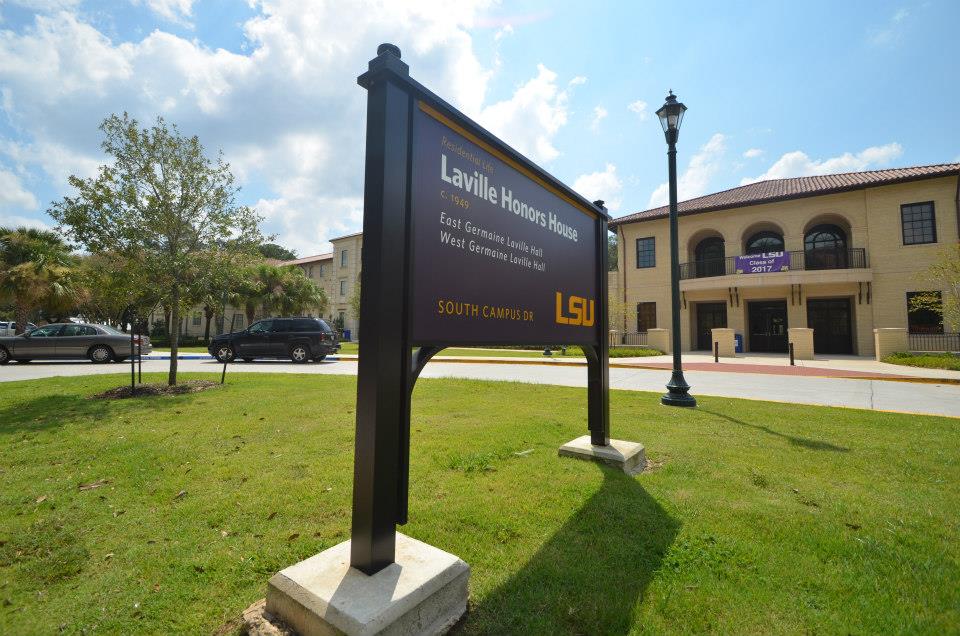
[(340, 349), (337, 334), (319, 318), (267, 318), (243, 331), (214, 336), (207, 351), (220, 362), (290, 358), (319, 362)]

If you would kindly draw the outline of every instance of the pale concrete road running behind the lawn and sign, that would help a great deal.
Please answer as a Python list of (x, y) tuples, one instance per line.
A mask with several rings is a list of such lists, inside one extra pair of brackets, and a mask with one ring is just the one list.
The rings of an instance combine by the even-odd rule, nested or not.
[[(144, 361), (144, 371), (163, 372), (166, 360)], [(184, 372), (219, 374), (221, 365), (210, 360), (181, 360)], [(0, 382), (28, 380), (51, 376), (77, 376), (94, 373), (124, 373), (123, 364), (95, 365), (89, 362), (32, 362), (0, 367)], [(325, 361), (306, 365), (282, 360), (236, 363), (230, 373), (332, 373), (356, 375), (353, 360)], [(685, 372), (694, 395), (773, 400), (797, 404), (818, 404), (851, 408), (898, 411), (926, 415), (960, 417), (960, 386), (893, 382), (887, 380), (854, 380), (824, 377), (794, 377), (758, 373), (719, 371)], [(506, 380), (534, 384), (557, 384), (586, 387), (587, 371), (582, 366), (547, 366), (490, 363), (450, 363), (434, 361), (424, 369), (425, 378), (473, 378)], [(669, 371), (650, 369), (610, 369), (610, 386), (628, 391), (664, 391)], [(0, 392), (0, 401), (2, 401)]]

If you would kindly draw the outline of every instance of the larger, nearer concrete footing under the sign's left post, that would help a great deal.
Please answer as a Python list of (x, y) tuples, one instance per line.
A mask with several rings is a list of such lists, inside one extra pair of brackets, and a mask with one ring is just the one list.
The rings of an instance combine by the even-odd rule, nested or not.
[(470, 566), (397, 533), (396, 562), (367, 576), (345, 541), (275, 574), (266, 611), (300, 636), (445, 634), (467, 611)]

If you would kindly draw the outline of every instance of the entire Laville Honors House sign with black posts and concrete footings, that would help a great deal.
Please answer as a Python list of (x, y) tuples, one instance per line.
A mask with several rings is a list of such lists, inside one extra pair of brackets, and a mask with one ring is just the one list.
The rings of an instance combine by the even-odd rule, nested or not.
[[(266, 609), (301, 633), (351, 633), (361, 615), (364, 629), (391, 616), (397, 633), (442, 633), (466, 611), (469, 567), (396, 531), (408, 517), (411, 393), (432, 356), (580, 346), (589, 435), (560, 454), (628, 472), (643, 458), (610, 439), (608, 216), (413, 80), (396, 46), (380, 45), (357, 81), (367, 131), (351, 538), (275, 575)], [(324, 609), (337, 599), (339, 612)], [(360, 611), (368, 602), (379, 605)]]

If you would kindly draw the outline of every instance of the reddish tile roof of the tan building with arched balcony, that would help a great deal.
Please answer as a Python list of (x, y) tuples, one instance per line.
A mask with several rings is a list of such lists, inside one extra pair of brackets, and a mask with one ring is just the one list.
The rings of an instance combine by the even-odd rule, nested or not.
[[(870, 170), (868, 172), (846, 172), (825, 174), (816, 177), (794, 177), (792, 179), (771, 179), (758, 181), (739, 188), (715, 192), (696, 199), (681, 201), (677, 206), (680, 216), (699, 212), (713, 212), (740, 208), (748, 205), (773, 203), (788, 199), (800, 199), (822, 194), (834, 194), (849, 190), (917, 181), (935, 177), (960, 175), (960, 163), (944, 163), (933, 166), (915, 166), (912, 168), (890, 168), (888, 170)], [(643, 212), (636, 212), (610, 221), (610, 228), (622, 223), (661, 219), (670, 213), (669, 206), (661, 206)]]

